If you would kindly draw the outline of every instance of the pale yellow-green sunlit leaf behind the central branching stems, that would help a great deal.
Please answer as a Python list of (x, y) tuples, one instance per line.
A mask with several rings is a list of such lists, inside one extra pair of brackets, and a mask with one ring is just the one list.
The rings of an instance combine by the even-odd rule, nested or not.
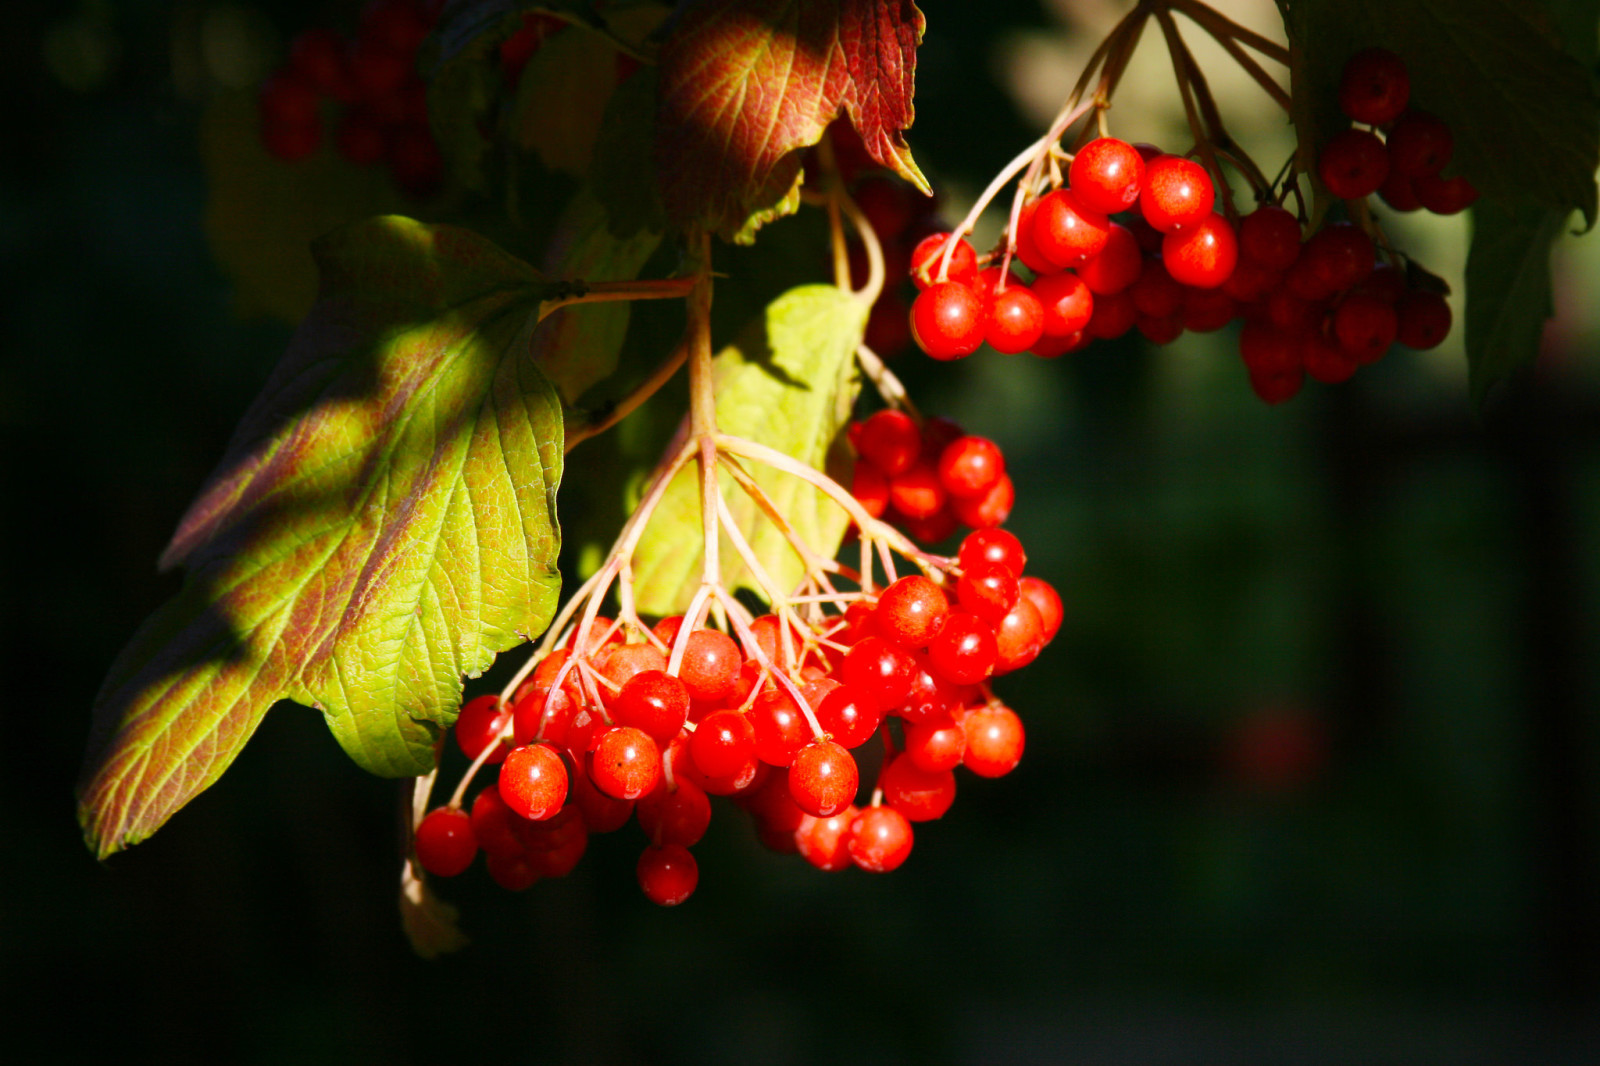
[[(856, 347), (867, 306), (832, 285), (794, 288), (766, 307), (739, 339), (717, 354), (717, 426), (826, 469), (861, 387)], [(850, 520), (826, 495), (789, 474), (747, 466), (800, 538), (824, 557), (838, 551)], [(757, 560), (789, 592), (805, 567), (782, 533), (722, 474), (723, 498)], [(699, 467), (690, 464), (667, 487), (634, 555), (634, 594), (646, 615), (688, 607), (702, 560)], [(726, 536), (718, 547), (730, 587), (757, 589)], [(765, 599), (765, 594), (762, 594)]]

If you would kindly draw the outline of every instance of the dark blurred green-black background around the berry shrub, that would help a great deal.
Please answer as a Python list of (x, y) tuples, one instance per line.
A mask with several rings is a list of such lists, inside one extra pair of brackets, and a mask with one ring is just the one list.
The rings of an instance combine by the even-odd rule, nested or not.
[[(912, 142), (954, 218), (1117, 5), (926, 8)], [(925, 410), (1006, 448), (1011, 528), (1067, 621), (1002, 683), (1022, 765), (963, 778), (893, 876), (819, 874), (720, 816), (694, 898), (658, 909), (629, 828), (523, 895), (482, 869), (443, 885), (474, 943), (422, 962), (394, 903), (397, 786), (290, 704), (94, 863), (72, 797), (90, 703), (174, 591), (154, 560), (290, 333), (238, 314), (208, 248), (197, 130), (294, 32), (352, 18), (0, 5), (11, 1061), (1595, 1061), (1594, 237), (1563, 250), (1539, 367), (1482, 418), (1459, 347), (1280, 408), (1227, 333), (901, 359)], [(1115, 118), (1181, 139), (1171, 115)], [(1408, 238), (1459, 275), (1462, 234)]]

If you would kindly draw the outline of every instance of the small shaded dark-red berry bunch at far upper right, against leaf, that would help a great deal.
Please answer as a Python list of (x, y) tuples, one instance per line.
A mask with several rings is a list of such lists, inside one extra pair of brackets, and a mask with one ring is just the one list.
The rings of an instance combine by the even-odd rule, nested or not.
[[(1411, 77), (1400, 56), (1387, 48), (1350, 56), (1339, 80), (1339, 106), (1360, 125), (1323, 144), (1317, 176), (1341, 200), (1376, 192), (1397, 211), (1456, 214), (1478, 198), (1478, 190), (1462, 176), (1442, 174), (1454, 136), (1438, 117), (1408, 107), (1410, 101)], [(1378, 130), (1386, 136), (1379, 138)]]

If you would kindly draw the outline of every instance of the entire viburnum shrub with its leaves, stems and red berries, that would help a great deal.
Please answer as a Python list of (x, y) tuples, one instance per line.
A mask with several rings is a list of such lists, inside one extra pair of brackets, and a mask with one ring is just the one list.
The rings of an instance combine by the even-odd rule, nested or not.
[[(315, 303), (162, 557), (186, 570), (181, 592), (96, 699), (90, 847), (147, 837), (293, 699), (358, 765), (410, 781), (402, 914), (424, 954), (461, 943), (429, 879), (472, 876), (478, 852), (520, 892), (568, 874), (590, 836), (627, 832), (643, 895), (666, 906), (693, 898), (691, 848), (728, 816), (822, 871), (899, 868), (914, 824), (1022, 759), (995, 680), (1034, 663), (1064, 605), (1005, 528), (1027, 501), (1002, 442), (925, 415), (886, 357), (915, 339), (939, 360), (986, 343), (1056, 359), (1237, 320), (1251, 384), (1283, 400), (1304, 375), (1342, 381), (1395, 341), (1445, 339), (1443, 287), (1381, 211), (1462, 210), (1480, 178), (1485, 238), (1522, 250), (1501, 288), (1538, 303), (1528, 242), (1565, 214), (1533, 224), (1530, 205), (1592, 213), (1600, 120), (1563, 104), (1587, 72), (1539, 53), (1549, 40), (1504, 5), (1480, 11), (1523, 66), (1429, 53), (1430, 77), (1470, 72), (1467, 114), (1410, 74), (1406, 48), (1446, 46), (1408, 35), (1427, 24), (1406, 21), (1416, 3), (1357, 21), (1296, 0), (1285, 46), (1200, 0), (1139, 0), (954, 227), (904, 136), (925, 29), (909, 0), (805, 5), (803, 40), (757, 0), (670, 19), (651, 3), (379, 0), (350, 35), (294, 35), (254, 98), (256, 189), (299, 206), (307, 174), (384, 163), (435, 221), (394, 214), (394, 190), (365, 179), (306, 203), (349, 221), (312, 246)], [(1179, 14), (1291, 112), (1299, 146), (1274, 178), (1224, 130)], [(1357, 38), (1390, 18), (1394, 34)], [(1152, 22), (1190, 146), (1110, 134)], [(1294, 96), (1256, 56), (1296, 61)], [(1531, 93), (1539, 122), (1482, 86)], [(1522, 178), (1485, 165), (1483, 138), (1461, 138), (1458, 160), (1464, 115)], [(973, 226), (1011, 182), (979, 254)], [(357, 189), (370, 211), (350, 213)], [(715, 242), (802, 210), (830, 277), (768, 293), (714, 351)], [(229, 246), (253, 259), (278, 229), (293, 226)], [(675, 341), (630, 319), (643, 299), (682, 304)], [(1472, 357), (1475, 387), (1515, 362)], [(610, 549), (571, 560), (563, 597), (570, 453), (680, 395), (662, 392), (680, 375), (669, 440), (642, 418), (621, 459), (584, 467), (629, 514)], [(464, 679), (525, 643), (498, 691), (462, 703)]]

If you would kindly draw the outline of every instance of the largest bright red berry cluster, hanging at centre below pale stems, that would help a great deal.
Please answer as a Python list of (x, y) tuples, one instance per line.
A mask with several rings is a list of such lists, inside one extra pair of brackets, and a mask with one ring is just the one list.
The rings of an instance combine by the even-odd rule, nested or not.
[[(590, 832), (635, 818), (650, 845), (645, 895), (686, 900), (690, 853), (733, 797), (778, 852), (821, 869), (883, 872), (906, 861), (912, 823), (941, 818), (955, 768), (1000, 776), (1022, 755), (1022, 723), (987, 688), (1030, 663), (1061, 627), (1061, 599), (1024, 576), (1021, 543), (979, 530), (933, 576), (856, 595), (842, 613), (789, 624), (648, 632), (597, 618), (581, 645), (546, 656), (510, 704), (461, 709), (461, 749), (499, 763), (469, 810), (438, 807), (416, 831), (432, 874), (466, 871), (482, 848), (490, 876), (520, 890), (573, 869)], [(632, 639), (630, 639), (632, 637)], [(858, 807), (851, 749), (882, 739), (870, 800)]]

